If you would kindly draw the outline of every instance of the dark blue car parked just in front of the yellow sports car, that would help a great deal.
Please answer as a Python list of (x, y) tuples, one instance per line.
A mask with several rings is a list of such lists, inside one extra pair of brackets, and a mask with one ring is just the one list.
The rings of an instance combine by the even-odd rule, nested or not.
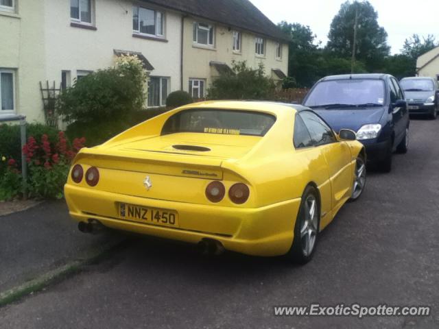
[(368, 162), (392, 169), (392, 153), (406, 153), (410, 119), (404, 92), (388, 74), (333, 75), (319, 80), (303, 105), (335, 132), (350, 128), (366, 146)]

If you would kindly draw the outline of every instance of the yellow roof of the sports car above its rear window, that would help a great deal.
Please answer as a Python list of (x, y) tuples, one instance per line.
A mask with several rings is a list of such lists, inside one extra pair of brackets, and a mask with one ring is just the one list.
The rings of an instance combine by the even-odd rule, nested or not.
[(222, 110), (249, 110), (255, 112), (271, 112), (281, 114), (285, 110), (300, 112), (309, 110), (305, 106), (292, 103), (281, 103), (276, 101), (200, 101), (183, 106), (181, 109), (202, 108), (202, 109), (222, 109)]

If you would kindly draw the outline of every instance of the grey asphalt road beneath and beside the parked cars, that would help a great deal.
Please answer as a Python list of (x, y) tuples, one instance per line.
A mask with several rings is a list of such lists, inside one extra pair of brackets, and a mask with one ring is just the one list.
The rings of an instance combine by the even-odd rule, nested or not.
[[(132, 239), (103, 263), (0, 308), (0, 328), (439, 328), (439, 121), (322, 232), (304, 267), (282, 258)], [(95, 237), (90, 236), (90, 239)], [(429, 317), (275, 317), (273, 306), (427, 305)]]

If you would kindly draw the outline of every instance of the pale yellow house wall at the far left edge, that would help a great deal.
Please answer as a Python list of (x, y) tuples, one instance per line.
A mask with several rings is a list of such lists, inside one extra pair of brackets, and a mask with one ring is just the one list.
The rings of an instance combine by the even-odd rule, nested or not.
[(15, 71), (15, 110), (43, 121), (38, 82), (45, 78), (44, 1), (16, 1), (14, 14), (0, 11), (0, 68)]

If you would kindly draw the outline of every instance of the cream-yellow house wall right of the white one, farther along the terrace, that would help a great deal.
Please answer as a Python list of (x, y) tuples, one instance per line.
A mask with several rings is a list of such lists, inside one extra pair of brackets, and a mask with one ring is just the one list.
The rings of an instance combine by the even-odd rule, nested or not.
[[(214, 47), (204, 47), (193, 43), (193, 22), (209, 23), (215, 26)], [(189, 91), (189, 79), (206, 79), (206, 86), (211, 84), (217, 76), (216, 70), (209, 66), (210, 62), (225, 62), (232, 66), (233, 60), (246, 61), (249, 66), (257, 68), (259, 63), (265, 66), (265, 73), (272, 77), (272, 69), (281, 69), (288, 73), (288, 45), (283, 45), (282, 60), (276, 60), (276, 41), (265, 38), (265, 56), (255, 53), (254, 34), (242, 33), (241, 53), (233, 51), (233, 29), (224, 25), (204, 21), (201, 19), (186, 17), (183, 42), (183, 89)]]

